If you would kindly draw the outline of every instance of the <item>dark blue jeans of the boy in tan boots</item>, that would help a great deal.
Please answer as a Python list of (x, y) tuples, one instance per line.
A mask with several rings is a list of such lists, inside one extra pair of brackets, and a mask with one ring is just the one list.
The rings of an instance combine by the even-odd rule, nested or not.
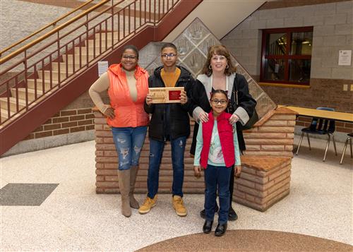
[[(173, 165), (173, 196), (183, 196), (184, 182), (184, 150), (186, 145), (186, 136), (181, 136), (170, 140), (172, 145), (172, 165)], [(160, 179), (160, 162), (164, 150), (164, 142), (150, 138), (150, 164), (148, 165), (148, 197), (154, 198), (158, 192)]]

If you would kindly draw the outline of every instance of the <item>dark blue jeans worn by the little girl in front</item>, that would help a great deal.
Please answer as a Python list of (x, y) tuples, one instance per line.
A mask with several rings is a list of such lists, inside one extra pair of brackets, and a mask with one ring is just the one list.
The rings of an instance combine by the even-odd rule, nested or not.
[(205, 214), (206, 220), (213, 221), (215, 217), (215, 198), (218, 187), (220, 210), (218, 211), (218, 223), (226, 224), (229, 212), (229, 180), (232, 168), (216, 167), (208, 164), (205, 169)]

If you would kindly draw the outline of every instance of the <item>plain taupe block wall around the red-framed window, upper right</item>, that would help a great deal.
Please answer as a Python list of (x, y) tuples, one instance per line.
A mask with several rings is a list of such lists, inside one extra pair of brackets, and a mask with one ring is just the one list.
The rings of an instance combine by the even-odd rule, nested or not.
[(313, 26), (311, 78), (353, 80), (338, 50), (353, 49), (353, 1), (256, 11), (222, 38), (252, 76), (260, 75), (261, 30)]

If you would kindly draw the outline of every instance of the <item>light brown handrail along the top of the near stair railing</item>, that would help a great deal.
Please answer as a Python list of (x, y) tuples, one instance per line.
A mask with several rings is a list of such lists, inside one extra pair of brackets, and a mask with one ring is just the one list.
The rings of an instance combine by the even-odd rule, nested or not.
[(4, 64), (6, 61), (12, 59), (13, 57), (17, 56), (21, 52), (25, 52), (26, 49), (32, 47), (35, 44), (38, 44), (42, 40), (45, 40), (47, 37), (52, 36), (54, 33), (58, 32), (59, 30), (62, 30), (63, 28), (66, 28), (66, 26), (71, 25), (71, 23), (75, 22), (76, 20), (83, 18), (83, 16), (87, 15), (88, 13), (94, 11), (95, 9), (99, 8), (100, 6), (107, 4), (110, 0), (102, 0), (100, 3), (96, 4), (95, 6), (92, 6), (91, 8), (88, 8), (88, 10), (83, 11), (83, 13), (80, 13), (78, 16), (75, 18), (71, 18), (71, 20), (68, 20), (66, 23), (63, 23), (62, 25), (58, 26), (57, 28), (51, 30), (47, 34), (42, 35), (41, 37), (38, 37), (36, 40), (33, 40), (32, 42), (24, 45), (23, 47), (17, 49), (15, 52), (12, 52), (11, 54), (8, 54), (4, 58), (0, 59), (0, 64)]

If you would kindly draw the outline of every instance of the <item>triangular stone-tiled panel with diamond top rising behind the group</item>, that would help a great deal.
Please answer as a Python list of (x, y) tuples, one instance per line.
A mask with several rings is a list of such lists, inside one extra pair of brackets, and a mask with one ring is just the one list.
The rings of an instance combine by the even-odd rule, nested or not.
[[(198, 18), (195, 18), (173, 43), (178, 48), (179, 64), (188, 68), (194, 77), (198, 76), (201, 72), (203, 64), (207, 59), (208, 48), (214, 44), (221, 44), (220, 40), (217, 40), (217, 37)], [(239, 64), (237, 59), (233, 55), (231, 57), (234, 65), (237, 67), (237, 73), (244, 75), (246, 80), (248, 80), (250, 93), (258, 102), (256, 105), (258, 116), (261, 118), (275, 109), (277, 107), (275, 102), (251, 78), (250, 74)], [(146, 69), (152, 74), (153, 69), (161, 66), (161, 64), (160, 56), (157, 56)]]

